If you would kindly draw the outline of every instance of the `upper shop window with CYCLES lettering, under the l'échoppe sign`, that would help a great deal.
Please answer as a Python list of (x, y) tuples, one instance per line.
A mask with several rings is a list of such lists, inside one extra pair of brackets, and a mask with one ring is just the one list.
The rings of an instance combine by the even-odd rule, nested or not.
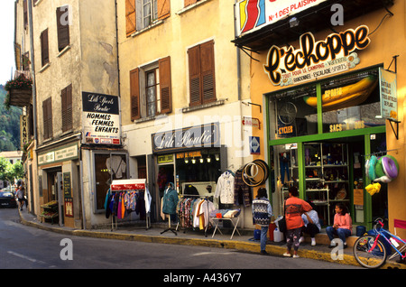
[(316, 87), (293, 88), (270, 97), (271, 139), (318, 133), (316, 106), (303, 105), (307, 97), (316, 97)]

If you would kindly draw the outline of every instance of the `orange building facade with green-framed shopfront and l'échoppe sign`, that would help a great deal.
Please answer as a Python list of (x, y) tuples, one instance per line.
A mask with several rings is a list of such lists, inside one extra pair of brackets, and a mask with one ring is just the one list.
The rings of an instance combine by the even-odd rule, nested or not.
[(251, 97), (266, 111), (254, 134), (273, 167), (275, 214), (294, 184), (326, 226), (339, 202), (355, 225), (380, 217), (392, 228), (406, 218), (405, 9), (404, 1), (235, 4), (233, 42), (253, 51)]

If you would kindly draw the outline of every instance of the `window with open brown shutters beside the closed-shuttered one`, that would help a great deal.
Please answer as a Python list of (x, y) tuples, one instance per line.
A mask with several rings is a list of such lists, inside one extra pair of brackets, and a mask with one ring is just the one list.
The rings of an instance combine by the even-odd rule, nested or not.
[(131, 119), (171, 113), (171, 57), (130, 71)]

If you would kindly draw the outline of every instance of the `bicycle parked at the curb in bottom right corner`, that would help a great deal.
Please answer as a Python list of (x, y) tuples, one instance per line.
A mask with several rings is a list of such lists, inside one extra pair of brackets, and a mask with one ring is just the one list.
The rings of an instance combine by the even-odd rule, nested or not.
[[(385, 246), (384, 243), (389, 245)], [(389, 246), (395, 252), (392, 252)], [(353, 251), (356, 261), (362, 266), (379, 268), (386, 262), (389, 255), (391, 256), (388, 260), (392, 260), (396, 256), (400, 256), (401, 260), (404, 260), (406, 258), (405, 249), (406, 242), (383, 229), (383, 219), (377, 218), (374, 221), (374, 235), (365, 234), (356, 239)]]

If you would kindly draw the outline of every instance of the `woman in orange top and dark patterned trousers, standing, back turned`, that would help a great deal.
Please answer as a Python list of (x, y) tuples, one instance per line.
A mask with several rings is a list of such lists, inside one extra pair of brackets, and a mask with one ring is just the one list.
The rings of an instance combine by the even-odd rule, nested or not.
[(299, 239), (303, 220), (301, 215), (310, 211), (312, 208), (309, 203), (299, 199), (299, 191), (296, 187), (289, 188), (289, 199), (285, 201), (285, 218), (286, 218), (286, 244), (287, 250), (283, 256), (291, 257), (291, 247), (293, 246), (293, 258), (299, 258)]

